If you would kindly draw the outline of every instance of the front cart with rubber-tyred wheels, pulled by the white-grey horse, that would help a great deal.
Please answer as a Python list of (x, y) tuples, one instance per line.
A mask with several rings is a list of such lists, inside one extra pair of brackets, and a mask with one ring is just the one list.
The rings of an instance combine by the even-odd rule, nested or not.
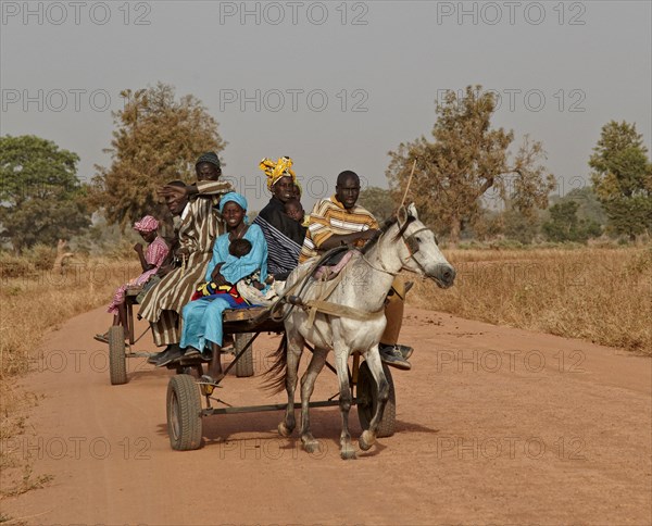
[[(287, 338), (285, 327), (281, 321), (271, 317), (269, 310), (265, 308), (247, 308), (226, 310), (223, 315), (224, 334), (248, 335), (242, 340), (239, 349), (237, 348), (234, 361), (224, 371), (224, 376), (233, 368), (237, 367), (240, 361), (244, 360), (249, 367), (251, 360), (251, 346), (262, 333), (275, 333), (281, 335), (279, 350), (287, 350)], [(306, 345), (312, 352), (313, 349)], [(253, 363), (251, 363), (251, 367)], [(286, 403), (275, 403), (266, 405), (234, 406), (213, 397), (215, 384), (202, 383), (203, 362), (198, 359), (189, 359), (178, 364), (171, 364), (168, 367), (176, 368), (177, 374), (170, 378), (167, 384), (167, 433), (170, 443), (173, 449), (178, 451), (189, 451), (199, 449), (202, 444), (202, 419), (209, 416), (230, 414), (230, 413), (255, 413), (262, 411), (285, 411)], [(336, 373), (335, 367), (326, 363), (331, 372)], [(389, 383), (389, 400), (385, 406), (383, 419), (378, 426), (378, 437), (389, 437), (396, 429), (396, 393), (394, 386), (389, 368), (384, 364), (383, 370), (387, 381)], [(337, 373), (336, 373), (337, 374)], [(354, 353), (352, 363), (349, 367), (349, 383), (353, 393), (353, 404), (358, 409), (358, 417), (363, 429), (368, 429), (372, 416), (377, 405), (376, 383), (371, 374), (367, 364), (362, 361), (360, 353)], [(203, 403), (202, 403), (203, 400)], [(339, 391), (327, 400), (313, 401), (311, 408), (326, 408), (339, 405)]]

